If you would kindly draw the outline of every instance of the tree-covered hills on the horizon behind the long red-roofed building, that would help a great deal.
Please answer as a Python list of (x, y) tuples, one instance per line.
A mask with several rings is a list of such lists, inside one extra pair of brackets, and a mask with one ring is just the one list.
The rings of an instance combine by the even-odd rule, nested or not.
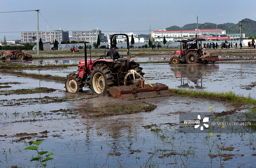
[[(249, 36), (256, 36), (256, 21), (252, 19), (245, 18), (242, 21), (242, 28), (243, 31), (242, 33), (245, 33), (245, 37)], [(217, 24), (218, 29), (226, 30), (227, 34), (230, 33), (240, 33), (240, 27), (239, 27), (240, 22), (237, 24), (234, 23), (224, 23), (224, 24)], [(203, 24), (198, 24), (199, 29), (212, 29), (216, 28), (215, 23), (203, 23)], [(196, 23), (191, 23), (184, 25), (182, 27), (179, 26), (171, 26), (167, 27), (166, 30), (195, 30), (197, 29)]]

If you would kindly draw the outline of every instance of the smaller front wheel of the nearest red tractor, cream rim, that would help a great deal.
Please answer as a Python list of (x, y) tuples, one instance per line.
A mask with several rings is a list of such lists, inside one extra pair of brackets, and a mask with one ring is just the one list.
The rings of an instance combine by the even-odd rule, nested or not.
[(78, 74), (75, 73), (68, 74), (65, 79), (65, 88), (67, 92), (83, 92), (82, 78), (78, 77)]

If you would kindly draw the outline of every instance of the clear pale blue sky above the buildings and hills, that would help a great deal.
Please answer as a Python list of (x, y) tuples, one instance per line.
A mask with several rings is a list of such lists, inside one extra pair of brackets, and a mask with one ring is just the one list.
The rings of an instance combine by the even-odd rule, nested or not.
[[(211, 22), (238, 23), (256, 20), (255, 0), (12, 0), (2, 1), (0, 12), (40, 10), (39, 31), (92, 30), (102, 33), (148, 34), (170, 26)], [(0, 13), (0, 40), (19, 37), (22, 31), (37, 31), (37, 12)], [(45, 21), (46, 20), (46, 21)], [(48, 23), (49, 24), (48, 24)], [(2, 33), (13, 32), (13, 33)], [(17, 33), (14, 33), (17, 32)]]

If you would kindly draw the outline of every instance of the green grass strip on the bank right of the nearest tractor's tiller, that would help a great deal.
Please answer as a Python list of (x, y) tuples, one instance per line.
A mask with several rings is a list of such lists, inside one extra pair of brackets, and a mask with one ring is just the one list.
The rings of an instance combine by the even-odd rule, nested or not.
[(205, 90), (185, 90), (169, 88), (174, 95), (198, 97), (206, 99), (220, 99), (221, 101), (230, 101), (234, 103), (256, 104), (256, 99), (251, 97), (244, 97), (244, 95), (237, 95), (235, 92), (212, 92)]

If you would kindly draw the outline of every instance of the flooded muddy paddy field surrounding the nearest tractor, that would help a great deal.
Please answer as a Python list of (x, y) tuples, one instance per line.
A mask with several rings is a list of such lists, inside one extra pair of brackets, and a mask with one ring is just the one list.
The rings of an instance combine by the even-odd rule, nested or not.
[[(170, 88), (234, 91), (255, 97), (253, 60), (140, 66), (150, 83), (159, 82)], [(22, 72), (65, 77), (76, 72), (76, 68)], [(33, 145), (31, 141), (40, 140), (39, 151), (54, 153), (47, 167), (256, 166), (253, 132), (209, 135), (179, 131), (180, 113), (211, 112), (211, 106), (216, 113), (255, 113), (254, 105), (180, 96), (125, 101), (93, 95), (90, 90), (67, 93), (62, 81), (7, 73), (0, 73), (0, 81), (0, 167), (36, 167), (35, 161), (29, 161), (36, 157), (36, 151), (24, 149)], [(38, 93), (37, 88), (48, 89)]]

